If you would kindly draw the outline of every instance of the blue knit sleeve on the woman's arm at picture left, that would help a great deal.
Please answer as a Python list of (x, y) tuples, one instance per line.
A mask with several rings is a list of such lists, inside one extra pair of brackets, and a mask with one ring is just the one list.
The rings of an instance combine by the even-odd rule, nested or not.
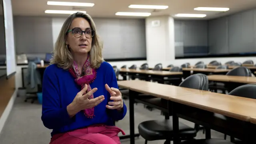
[(70, 118), (67, 107), (60, 104), (58, 78), (56, 68), (48, 66), (44, 71), (42, 85), (42, 122), (46, 128), (55, 129), (74, 122), (75, 117)]

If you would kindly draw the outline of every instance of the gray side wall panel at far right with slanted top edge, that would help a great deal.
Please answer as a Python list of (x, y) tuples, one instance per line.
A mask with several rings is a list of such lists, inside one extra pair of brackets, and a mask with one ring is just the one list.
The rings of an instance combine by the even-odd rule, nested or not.
[(248, 10), (209, 21), (211, 54), (256, 51), (256, 10)]

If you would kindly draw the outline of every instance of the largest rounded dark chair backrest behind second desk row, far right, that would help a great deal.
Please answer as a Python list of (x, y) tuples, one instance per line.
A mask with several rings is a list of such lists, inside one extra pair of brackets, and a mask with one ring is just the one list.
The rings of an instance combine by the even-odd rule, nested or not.
[(237, 67), (230, 70), (226, 75), (227, 76), (252, 76), (252, 72), (249, 68), (241, 66), (241, 67)]

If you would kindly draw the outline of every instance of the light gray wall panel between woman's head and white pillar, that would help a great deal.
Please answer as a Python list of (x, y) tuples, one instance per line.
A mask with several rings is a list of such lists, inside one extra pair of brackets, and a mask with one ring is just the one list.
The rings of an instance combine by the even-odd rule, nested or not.
[(104, 59), (146, 58), (144, 19), (94, 18)]

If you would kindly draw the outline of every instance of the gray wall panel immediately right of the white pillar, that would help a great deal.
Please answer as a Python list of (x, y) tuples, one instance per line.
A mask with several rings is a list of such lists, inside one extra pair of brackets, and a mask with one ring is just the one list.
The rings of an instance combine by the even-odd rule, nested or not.
[(176, 56), (208, 53), (207, 20), (175, 20), (174, 37)]

